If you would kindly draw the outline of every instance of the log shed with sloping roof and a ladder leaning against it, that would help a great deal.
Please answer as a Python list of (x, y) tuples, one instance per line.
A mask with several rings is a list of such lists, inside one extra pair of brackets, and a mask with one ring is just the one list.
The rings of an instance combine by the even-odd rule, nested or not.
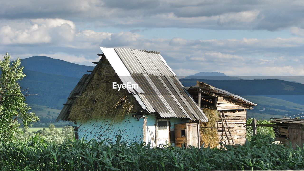
[(246, 141), (246, 110), (257, 104), (204, 82), (186, 88), (201, 109), (208, 108), (220, 112), (215, 127), (219, 143), (235, 145)]

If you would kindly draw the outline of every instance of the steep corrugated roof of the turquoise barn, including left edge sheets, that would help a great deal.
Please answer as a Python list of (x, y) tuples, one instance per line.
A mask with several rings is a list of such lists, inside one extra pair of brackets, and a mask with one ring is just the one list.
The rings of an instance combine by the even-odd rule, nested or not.
[[(144, 110), (149, 113), (157, 112), (164, 118), (179, 117), (208, 121), (160, 52), (103, 47), (101, 50), (124, 84), (130, 82), (139, 85), (138, 89), (128, 89), (128, 92), (133, 94)], [(99, 63), (100, 61), (95, 68)], [(95, 68), (90, 77), (94, 74)], [(90, 80), (88, 76), (84, 77), (85, 82)], [(79, 82), (72, 92), (80, 87), (77, 92), (81, 93), (85, 86), (86, 84)], [(57, 120), (68, 120), (73, 102), (74, 99), (72, 101), (68, 99), (68, 104), (64, 106)]]

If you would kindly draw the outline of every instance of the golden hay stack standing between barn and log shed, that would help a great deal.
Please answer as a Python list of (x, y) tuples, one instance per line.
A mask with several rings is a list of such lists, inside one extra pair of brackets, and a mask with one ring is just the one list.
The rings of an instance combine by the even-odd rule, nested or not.
[(208, 122), (201, 123), (200, 133), (201, 133), (201, 145), (204, 143), (204, 147), (210, 145), (210, 148), (217, 147), (219, 137), (217, 134), (217, 128), (210, 128), (215, 127), (217, 121), (219, 121), (219, 111), (211, 110), (208, 108), (202, 109), (205, 113), (206, 117), (208, 118)]

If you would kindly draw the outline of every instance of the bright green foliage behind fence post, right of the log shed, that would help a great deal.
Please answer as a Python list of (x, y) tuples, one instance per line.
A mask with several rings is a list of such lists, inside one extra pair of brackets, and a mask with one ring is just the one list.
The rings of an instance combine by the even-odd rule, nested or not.
[[(246, 124), (252, 124), (252, 120), (254, 118), (247, 118)], [(257, 120), (257, 124), (271, 124), (268, 120)], [(260, 133), (264, 136), (270, 136), (271, 138), (275, 138), (275, 131), (272, 127), (257, 127), (257, 133)], [(252, 135), (252, 127), (247, 127), (246, 131), (246, 139), (250, 141)]]

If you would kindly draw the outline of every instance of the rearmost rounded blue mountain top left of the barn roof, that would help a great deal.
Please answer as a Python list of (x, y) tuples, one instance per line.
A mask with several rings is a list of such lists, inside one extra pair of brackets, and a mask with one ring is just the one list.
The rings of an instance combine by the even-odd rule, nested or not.
[(33, 56), (21, 60), (24, 69), (46, 74), (56, 74), (81, 78), (87, 71), (92, 71), (94, 67), (78, 65), (60, 59), (53, 59), (47, 56)]

